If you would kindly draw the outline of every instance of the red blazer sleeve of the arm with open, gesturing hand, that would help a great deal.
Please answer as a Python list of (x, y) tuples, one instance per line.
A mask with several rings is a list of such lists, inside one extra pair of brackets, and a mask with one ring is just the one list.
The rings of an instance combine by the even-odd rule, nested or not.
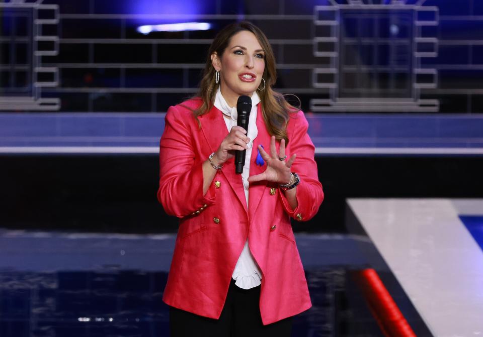
[(285, 193), (279, 193), (285, 211), (298, 221), (311, 219), (318, 211), (320, 204), (324, 200), (322, 184), (318, 181), (317, 164), (314, 160), (315, 147), (308, 136), (308, 122), (302, 111), (298, 111), (292, 117), (294, 122), (292, 137), (290, 142), (290, 156), (297, 154), (292, 164), (292, 172), (296, 172), (300, 177), (297, 185), (297, 207), (290, 208)]

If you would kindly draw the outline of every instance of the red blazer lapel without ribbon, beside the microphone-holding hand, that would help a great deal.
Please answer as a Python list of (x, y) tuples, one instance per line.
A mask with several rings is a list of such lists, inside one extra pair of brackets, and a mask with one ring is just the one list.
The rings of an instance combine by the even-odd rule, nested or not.
[[(209, 144), (211, 152), (218, 150), (221, 141), (228, 135), (228, 130), (226, 128), (225, 121), (223, 120), (223, 114), (215, 106), (211, 110), (199, 117), (201, 123), (201, 131)], [(257, 121), (258, 127), (258, 121)], [(234, 157), (228, 159), (223, 164), (223, 169), (221, 174), (223, 174), (231, 186), (239, 201), (248, 212), (247, 200), (245, 198), (245, 190), (243, 187), (243, 181), (241, 180), (241, 174), (235, 173), (235, 160)], [(252, 167), (252, 165), (250, 166)]]

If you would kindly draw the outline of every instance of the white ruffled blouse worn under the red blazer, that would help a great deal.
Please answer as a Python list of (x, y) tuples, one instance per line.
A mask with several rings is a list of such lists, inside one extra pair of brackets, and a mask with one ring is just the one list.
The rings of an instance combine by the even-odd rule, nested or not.
[[(258, 96), (257, 92), (252, 94), (252, 110), (250, 111), (250, 119), (248, 123), (248, 130), (247, 130), (247, 137), (250, 138), (250, 143), (248, 143), (248, 149), (245, 155), (245, 166), (243, 167), (243, 172), (241, 173), (241, 179), (243, 180), (243, 187), (245, 190), (245, 199), (247, 200), (247, 207), (248, 207), (248, 177), (250, 176), (250, 160), (252, 158), (252, 147), (253, 141), (258, 135), (257, 129), (257, 110), (258, 110), (258, 103), (260, 103), (260, 97)], [(229, 106), (228, 103), (225, 101), (223, 96), (221, 95), (220, 88), (216, 92), (215, 97), (215, 107), (223, 113), (223, 115), (229, 116), (230, 119), (223, 118), (226, 123), (226, 128), (228, 128), (228, 132), (231, 130), (233, 126), (236, 126), (236, 119), (237, 119), (237, 111), (236, 106)], [(260, 271), (255, 259), (250, 252), (250, 248), (248, 246), (248, 239), (245, 242), (245, 247), (243, 251), (241, 251), (240, 257), (236, 262), (235, 270), (231, 276), (236, 282), (235, 285), (242, 288), (242, 289), (251, 289), (256, 286), (259, 286), (262, 281), (262, 272)]]

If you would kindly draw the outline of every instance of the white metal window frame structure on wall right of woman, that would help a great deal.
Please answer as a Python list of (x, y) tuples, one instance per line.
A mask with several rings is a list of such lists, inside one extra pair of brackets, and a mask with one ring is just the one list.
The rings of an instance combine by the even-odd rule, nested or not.
[[(330, 62), (325, 67), (314, 68), (312, 71), (312, 86), (322, 89), (328, 93), (329, 98), (311, 99), (310, 110), (312, 111), (341, 111), (341, 112), (434, 112), (439, 110), (438, 99), (421, 99), (422, 89), (435, 89), (438, 83), (438, 71), (436, 68), (423, 68), (422, 58), (436, 57), (438, 55), (438, 39), (431, 30), (425, 30), (427, 26), (437, 26), (439, 24), (439, 10), (434, 6), (423, 6), (426, 0), (419, 0), (416, 4), (407, 4), (407, 0), (391, 0), (387, 4), (374, 4), (372, 0), (330, 0), (329, 6), (315, 6), (314, 8), (314, 38), (313, 54), (315, 57), (329, 58)], [(389, 12), (390, 11), (390, 12)], [(403, 67), (396, 69), (394, 64), (389, 64), (384, 71), (392, 78), (395, 72), (403, 74), (406, 72), (409, 84), (406, 94), (394, 96), (388, 92), (397, 90), (367, 90), (360, 83), (353, 84), (353, 94), (345, 92), (343, 82), (344, 72), (347, 67), (343, 58), (345, 43), (341, 23), (344, 16), (348, 13), (361, 14), (361, 17), (371, 18), (375, 21), (377, 16), (392, 17), (397, 13), (404, 13), (406, 18), (412, 18), (411, 37), (402, 41), (409, 48), (409, 57)], [(409, 13), (407, 15), (406, 13)], [(394, 27), (397, 29), (397, 26)], [(357, 32), (356, 34), (362, 34)], [(359, 36), (359, 42), (361, 41)], [(380, 37), (375, 36), (366, 39), (371, 42), (379, 42)], [(387, 39), (390, 42), (390, 38)], [(357, 43), (357, 41), (356, 41)], [(392, 50), (391, 50), (392, 52)], [(375, 53), (373, 53), (375, 54)], [(377, 56), (375, 56), (377, 57)], [(393, 58), (389, 53), (389, 58)], [(360, 63), (360, 62), (359, 62)], [(404, 69), (404, 66), (406, 69)], [(378, 65), (365, 66), (365, 74), (377, 78)], [(352, 70), (355, 76), (360, 76), (359, 69)], [(359, 71), (359, 74), (358, 74)], [(377, 79), (375, 80), (377, 83)], [(358, 85), (359, 84), (359, 85)], [(393, 85), (393, 84), (392, 84)], [(379, 86), (380, 88), (380, 86)], [(326, 89), (326, 90), (324, 90)], [(399, 90), (401, 92), (401, 90)]]

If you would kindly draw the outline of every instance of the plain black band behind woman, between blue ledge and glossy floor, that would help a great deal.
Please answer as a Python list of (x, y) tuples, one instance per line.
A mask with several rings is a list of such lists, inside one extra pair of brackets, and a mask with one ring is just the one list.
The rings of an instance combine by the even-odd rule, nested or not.
[[(471, 156), (316, 158), (326, 194), (295, 232), (345, 233), (348, 197), (483, 197), (483, 160)], [(177, 231), (156, 200), (153, 155), (2, 156), (2, 227), (86, 232)]]

